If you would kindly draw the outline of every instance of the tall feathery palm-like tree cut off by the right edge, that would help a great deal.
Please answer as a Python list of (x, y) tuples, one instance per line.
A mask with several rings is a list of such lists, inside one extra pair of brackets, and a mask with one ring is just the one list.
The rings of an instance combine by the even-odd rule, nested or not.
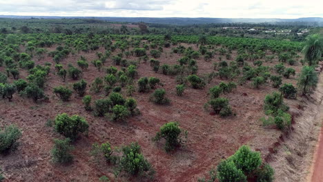
[(309, 65), (315, 65), (323, 52), (323, 39), (319, 34), (313, 34), (306, 37), (305, 46), (302, 50), (304, 59)]

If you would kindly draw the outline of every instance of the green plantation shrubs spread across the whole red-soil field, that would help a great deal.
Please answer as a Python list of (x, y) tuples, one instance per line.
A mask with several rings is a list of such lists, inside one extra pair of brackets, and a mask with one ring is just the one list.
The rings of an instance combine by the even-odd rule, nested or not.
[[(201, 107), (220, 117), (234, 117), (226, 94), (233, 92), (237, 85), (252, 85), (255, 90), (270, 83), (277, 92), (264, 98), (266, 117), (260, 119), (264, 125), (276, 125), (285, 130), (291, 125), (291, 114), (285, 99), (296, 99), (297, 94), (309, 94), (317, 83), (315, 65), (319, 57), (304, 57), (300, 60), (300, 50), (304, 44), (291, 41), (266, 39), (246, 39), (205, 36), (124, 36), (106, 34), (1, 34), (0, 43), (0, 94), (3, 99), (14, 102), (14, 97), (30, 98), (37, 104), (46, 103), (50, 96), (45, 92), (46, 81), (51, 74), (61, 78), (61, 85), (53, 88), (52, 93), (61, 101), (68, 102), (73, 93), (84, 103), (84, 110), (95, 117), (107, 117), (110, 121), (124, 122), (129, 117), (140, 114), (134, 92), (150, 92), (149, 101), (158, 105), (168, 105), (164, 83), (157, 77), (139, 75), (138, 68), (149, 63), (150, 68), (166, 77), (175, 77), (177, 97), (185, 94), (186, 88), (202, 90), (213, 79), (220, 79), (218, 85), (209, 89), (209, 101)], [(317, 37), (310, 37), (318, 39)], [(190, 43), (192, 46), (184, 46)], [(192, 44), (194, 43), (194, 45)], [(311, 46), (311, 45), (305, 45)], [(195, 48), (193, 48), (195, 47)], [(104, 48), (104, 52), (99, 50)], [(166, 52), (169, 50), (169, 52)], [(308, 48), (309, 51), (313, 50)], [(76, 63), (66, 63), (69, 57), (78, 57), (80, 52), (96, 52), (96, 59), (88, 60), (80, 56)], [(235, 59), (233, 59), (233, 55)], [(174, 64), (161, 64), (162, 55), (179, 55)], [(305, 52), (306, 54), (306, 52)], [(215, 60), (215, 56), (217, 60)], [(50, 57), (52, 61), (38, 62)], [(203, 59), (200, 59), (203, 58)], [(275, 60), (280, 63), (275, 63)], [(198, 62), (212, 61), (212, 72), (199, 72)], [(112, 63), (110, 66), (106, 66)], [(295, 65), (304, 65), (297, 75), (297, 85), (283, 83), (296, 77)], [(307, 65), (309, 64), (309, 65)], [(83, 79), (88, 68), (93, 66), (104, 77), (96, 77), (91, 83)], [(21, 77), (24, 74), (26, 77)], [(66, 82), (72, 81), (72, 87)], [(92, 97), (102, 94), (104, 98), (92, 101)], [(73, 156), (72, 143), (79, 134), (89, 132), (90, 125), (79, 115), (69, 116), (57, 113), (48, 125), (66, 139), (55, 139), (52, 148), (52, 161), (69, 163)], [(16, 148), (21, 130), (9, 125), (0, 132), (0, 151), (8, 152)], [(189, 133), (179, 127), (177, 122), (161, 126), (153, 141), (164, 139), (166, 152), (185, 145)], [(114, 150), (110, 143), (94, 143), (92, 156), (103, 155), (117, 173), (126, 172), (133, 176), (153, 177), (153, 166), (141, 154), (138, 143), (131, 143)], [(259, 152), (242, 146), (237, 152), (217, 166), (217, 174), (211, 172), (213, 181), (246, 181), (255, 177), (257, 181), (273, 181), (273, 169), (262, 162)], [(104, 178), (104, 177), (103, 177)], [(203, 181), (204, 179), (200, 179)]]

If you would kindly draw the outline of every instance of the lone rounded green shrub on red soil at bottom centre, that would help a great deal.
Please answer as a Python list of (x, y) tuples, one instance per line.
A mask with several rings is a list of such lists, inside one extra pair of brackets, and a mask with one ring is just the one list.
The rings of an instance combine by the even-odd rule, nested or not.
[(157, 132), (154, 140), (159, 141), (161, 138), (166, 140), (165, 150), (173, 150), (179, 146), (182, 139), (180, 139), (179, 134), (182, 133), (181, 128), (179, 128), (179, 123), (177, 122), (169, 122), (165, 123)]

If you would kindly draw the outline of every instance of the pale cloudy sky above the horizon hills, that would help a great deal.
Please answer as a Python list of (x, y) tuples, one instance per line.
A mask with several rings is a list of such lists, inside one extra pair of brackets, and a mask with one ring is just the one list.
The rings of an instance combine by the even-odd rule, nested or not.
[(323, 17), (322, 0), (0, 0), (0, 14), (81, 17)]

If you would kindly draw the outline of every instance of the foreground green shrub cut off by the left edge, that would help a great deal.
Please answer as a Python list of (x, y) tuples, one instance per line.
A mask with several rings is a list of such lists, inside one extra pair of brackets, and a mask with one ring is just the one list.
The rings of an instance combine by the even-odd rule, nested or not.
[(17, 148), (17, 141), (21, 137), (21, 131), (16, 125), (8, 125), (0, 130), (0, 153)]

